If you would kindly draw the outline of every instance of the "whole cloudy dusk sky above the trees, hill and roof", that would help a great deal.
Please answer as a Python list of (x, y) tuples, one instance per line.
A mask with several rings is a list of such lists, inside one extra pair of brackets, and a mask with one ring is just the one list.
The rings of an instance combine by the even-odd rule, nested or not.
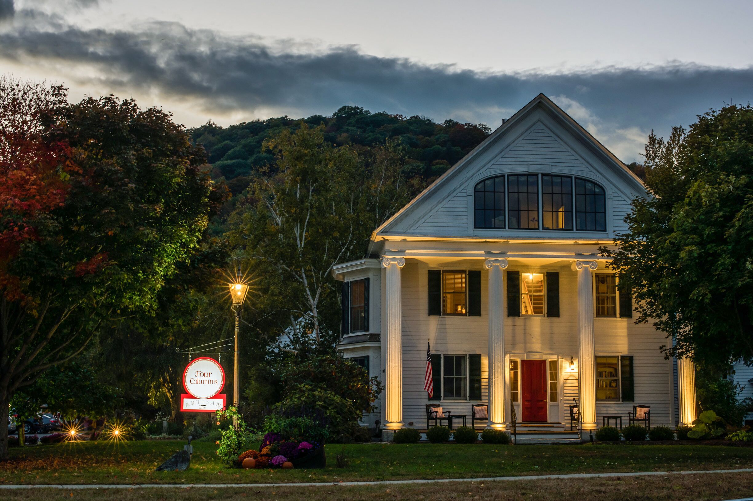
[(753, 2), (0, 0), (0, 73), (191, 127), (373, 112), (495, 128), (537, 93), (630, 162), (753, 99)]

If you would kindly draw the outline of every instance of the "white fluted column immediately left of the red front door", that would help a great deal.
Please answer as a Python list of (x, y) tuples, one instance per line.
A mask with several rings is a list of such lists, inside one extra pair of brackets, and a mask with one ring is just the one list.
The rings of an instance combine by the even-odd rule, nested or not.
[(505, 429), (505, 284), (507, 259), (487, 259), (489, 270), (489, 428)]

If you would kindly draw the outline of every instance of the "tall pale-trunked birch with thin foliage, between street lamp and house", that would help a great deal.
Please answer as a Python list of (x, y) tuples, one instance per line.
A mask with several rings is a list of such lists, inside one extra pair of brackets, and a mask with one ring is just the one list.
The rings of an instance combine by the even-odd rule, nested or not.
[(255, 179), (229, 232), (265, 295), (274, 294), (291, 325), (309, 322), (316, 341), (337, 325), (332, 267), (363, 256), (370, 231), (408, 194), (404, 157), (394, 142), (359, 155), (325, 142), (323, 133), (324, 127), (302, 124), (267, 142), (275, 172)]

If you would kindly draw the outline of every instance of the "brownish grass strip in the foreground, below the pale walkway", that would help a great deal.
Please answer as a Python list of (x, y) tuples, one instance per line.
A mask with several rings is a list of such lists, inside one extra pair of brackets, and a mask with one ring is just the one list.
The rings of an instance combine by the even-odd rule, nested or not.
[(385, 486), (117, 489), (117, 490), (4, 490), (4, 501), (300, 501), (325, 499), (346, 501), (437, 501), (437, 499), (530, 499), (531, 501), (717, 501), (748, 496), (753, 492), (751, 473), (672, 475), (670, 477), (579, 478), (496, 482), (453, 482)]

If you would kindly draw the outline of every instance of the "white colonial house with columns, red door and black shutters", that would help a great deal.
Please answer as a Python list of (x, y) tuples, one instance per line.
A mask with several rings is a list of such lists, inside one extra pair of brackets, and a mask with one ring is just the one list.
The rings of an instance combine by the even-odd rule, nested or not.
[[(435, 403), (471, 424), (564, 430), (627, 424), (651, 406), (651, 426), (696, 417), (692, 362), (666, 360), (665, 335), (636, 325), (599, 246), (645, 187), (550, 99), (539, 94), (370, 238), (370, 258), (338, 264), (338, 349), (385, 385), (390, 430), (426, 425)], [(424, 390), (431, 344), (434, 396)], [(476, 423), (477, 426), (479, 423)]]

